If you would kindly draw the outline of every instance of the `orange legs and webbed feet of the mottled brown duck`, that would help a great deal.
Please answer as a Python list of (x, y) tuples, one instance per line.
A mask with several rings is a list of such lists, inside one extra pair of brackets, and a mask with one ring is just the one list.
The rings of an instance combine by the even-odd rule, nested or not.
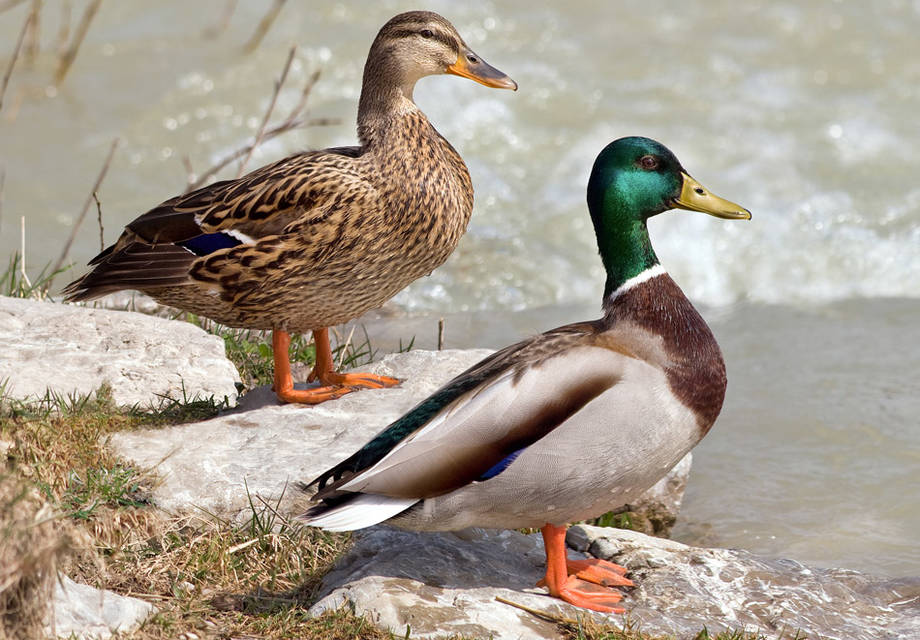
[(291, 336), (286, 331), (272, 331), (272, 350), (275, 359), (275, 393), (282, 402), (299, 402), (319, 404), (326, 400), (340, 398), (357, 389), (380, 389), (399, 384), (396, 378), (375, 376), (369, 373), (336, 373), (332, 361), (332, 349), (329, 346), (329, 330), (318, 329), (313, 332), (316, 344), (316, 364), (310, 372), (310, 382), (319, 380), (323, 386), (314, 389), (295, 389), (291, 377), (291, 358), (289, 348)]

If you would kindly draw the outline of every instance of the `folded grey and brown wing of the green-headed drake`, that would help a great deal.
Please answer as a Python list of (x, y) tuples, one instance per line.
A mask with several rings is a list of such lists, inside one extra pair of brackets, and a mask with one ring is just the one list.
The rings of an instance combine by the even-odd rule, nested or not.
[(598, 327), (561, 327), (483, 360), (314, 480), (315, 499), (332, 507), (374, 494), (411, 504), (498, 475), (619, 382), (630, 356), (598, 341)]

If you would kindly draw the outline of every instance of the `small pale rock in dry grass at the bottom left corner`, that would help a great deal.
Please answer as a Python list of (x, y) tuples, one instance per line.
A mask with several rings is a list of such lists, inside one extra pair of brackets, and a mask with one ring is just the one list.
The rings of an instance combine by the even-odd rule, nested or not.
[(45, 633), (59, 638), (109, 638), (133, 631), (156, 608), (149, 602), (79, 584), (61, 576), (55, 583)]

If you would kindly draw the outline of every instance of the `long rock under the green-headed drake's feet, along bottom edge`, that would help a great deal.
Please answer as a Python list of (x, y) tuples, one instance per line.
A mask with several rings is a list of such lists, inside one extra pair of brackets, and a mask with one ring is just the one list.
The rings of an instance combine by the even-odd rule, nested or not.
[[(422, 534), (374, 527), (356, 538), (323, 581), (311, 614), (347, 603), (397, 636), (408, 625), (413, 638), (559, 637), (552, 623), (497, 602), (501, 596), (570, 619), (586, 614), (622, 624), (619, 616), (585, 613), (534, 588), (544, 571), (539, 534)], [(622, 604), (631, 621), (650, 634), (691, 640), (706, 626), (710, 632), (759, 630), (770, 638), (783, 628), (801, 629), (810, 640), (920, 638), (917, 579), (810, 568), (620, 529), (573, 527), (567, 540), (629, 570), (637, 586)]]

